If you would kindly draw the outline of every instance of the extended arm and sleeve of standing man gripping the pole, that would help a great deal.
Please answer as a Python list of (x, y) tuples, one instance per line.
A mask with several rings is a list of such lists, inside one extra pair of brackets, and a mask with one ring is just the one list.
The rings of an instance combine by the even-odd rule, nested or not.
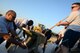
[(76, 12), (71, 12), (71, 14), (68, 16), (68, 18), (66, 19), (66, 21), (65, 22), (60, 21), (59, 23), (57, 23), (57, 26), (60, 26), (60, 25), (63, 25), (63, 26), (69, 25), (70, 23), (72, 23), (76, 19), (77, 16), (78, 16), (77, 11)]

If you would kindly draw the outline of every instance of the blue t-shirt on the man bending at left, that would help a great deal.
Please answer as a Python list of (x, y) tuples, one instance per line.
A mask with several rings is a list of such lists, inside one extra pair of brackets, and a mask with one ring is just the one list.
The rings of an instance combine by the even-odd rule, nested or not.
[(8, 33), (11, 29), (14, 29), (13, 23), (0, 16), (0, 33)]

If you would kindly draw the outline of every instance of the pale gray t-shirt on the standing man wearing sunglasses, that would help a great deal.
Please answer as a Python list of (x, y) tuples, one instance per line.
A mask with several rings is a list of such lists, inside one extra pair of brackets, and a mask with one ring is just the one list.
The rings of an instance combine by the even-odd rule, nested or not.
[(70, 23), (67, 29), (80, 32), (80, 11), (73, 11), (66, 21)]

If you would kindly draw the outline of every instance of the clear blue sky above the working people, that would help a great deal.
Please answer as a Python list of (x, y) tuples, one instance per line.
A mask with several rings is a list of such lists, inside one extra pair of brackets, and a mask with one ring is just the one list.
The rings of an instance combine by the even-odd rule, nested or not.
[[(0, 13), (14, 10), (17, 18), (32, 19), (34, 25), (44, 24), (51, 28), (71, 12), (71, 4), (80, 0), (0, 0)], [(58, 33), (63, 26), (54, 27)]]

